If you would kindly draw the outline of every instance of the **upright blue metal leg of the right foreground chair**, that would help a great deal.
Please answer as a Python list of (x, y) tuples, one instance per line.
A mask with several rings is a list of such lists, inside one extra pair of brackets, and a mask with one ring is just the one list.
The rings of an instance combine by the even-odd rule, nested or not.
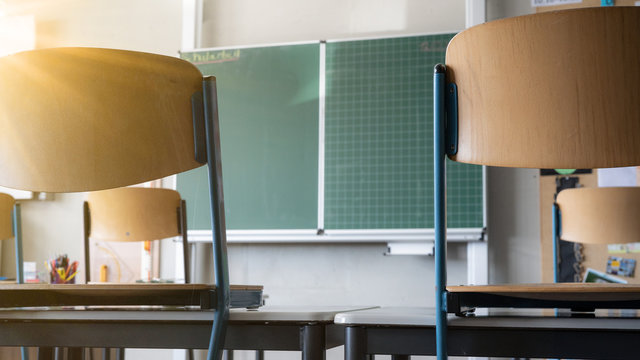
[(445, 183), (445, 67), (438, 64), (433, 76), (433, 176), (436, 273), (436, 353), (439, 360), (447, 358), (447, 214)]

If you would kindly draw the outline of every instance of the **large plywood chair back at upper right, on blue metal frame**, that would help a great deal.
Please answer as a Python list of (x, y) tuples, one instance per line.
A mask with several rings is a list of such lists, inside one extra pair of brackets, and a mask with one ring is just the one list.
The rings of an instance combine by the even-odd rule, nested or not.
[(454, 160), (531, 168), (640, 164), (640, 7), (549, 12), (455, 36)]

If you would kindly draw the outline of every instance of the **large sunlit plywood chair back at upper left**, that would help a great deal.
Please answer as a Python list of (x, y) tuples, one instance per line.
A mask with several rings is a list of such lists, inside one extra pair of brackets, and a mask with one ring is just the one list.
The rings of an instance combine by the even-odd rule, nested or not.
[(192, 64), (98, 48), (0, 58), (0, 185), (92, 191), (158, 179), (194, 160)]

